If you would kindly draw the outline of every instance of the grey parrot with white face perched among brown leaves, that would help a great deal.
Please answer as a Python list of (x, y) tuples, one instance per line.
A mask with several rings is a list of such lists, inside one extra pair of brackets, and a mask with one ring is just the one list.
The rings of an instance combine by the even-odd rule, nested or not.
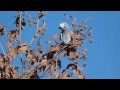
[(60, 40), (64, 45), (69, 45), (72, 41), (72, 31), (70, 30), (68, 23), (60, 23), (59, 29), (61, 30)]

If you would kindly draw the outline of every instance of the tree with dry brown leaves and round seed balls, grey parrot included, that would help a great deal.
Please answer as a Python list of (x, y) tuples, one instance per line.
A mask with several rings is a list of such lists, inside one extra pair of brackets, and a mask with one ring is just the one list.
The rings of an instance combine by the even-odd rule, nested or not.
[[(61, 33), (54, 34), (52, 39), (46, 41), (49, 46), (46, 51), (42, 49), (41, 37), (47, 32), (44, 17), (47, 17), (49, 13), (46, 11), (38, 11), (36, 13), (37, 17), (33, 18), (27, 11), (18, 11), (17, 16), (15, 16), (14, 30), (8, 31), (6, 26), (0, 25), (0, 36), (7, 36), (6, 45), (8, 49), (5, 52), (0, 43), (2, 51), (0, 55), (0, 78), (85, 79), (86, 76), (82, 70), (86, 67), (85, 62), (88, 50), (83, 46), (85, 39), (89, 39), (90, 43), (93, 42), (92, 27), (87, 24), (88, 20), (93, 17), (91, 16), (78, 24), (76, 17), (64, 14), (66, 20), (71, 20), (71, 25), (66, 22), (59, 25)], [(41, 20), (43, 21), (41, 22)], [(29, 25), (29, 28), (32, 25), (36, 25), (35, 34), (30, 43), (24, 43), (21, 40), (22, 33), (26, 30), (26, 25)], [(66, 29), (69, 29), (70, 33)], [(37, 44), (32, 46), (34, 40), (37, 40)], [(67, 40), (67, 43), (65, 40)], [(34, 48), (31, 48), (31, 46)], [(63, 68), (62, 63), (65, 63), (65, 60), (62, 60), (61, 57), (64, 57), (65, 60), (70, 60), (72, 63)], [(16, 59), (21, 61), (20, 66), (13, 64)], [(82, 66), (79, 65), (80, 61), (84, 62)], [(20, 68), (22, 69), (19, 70)]]

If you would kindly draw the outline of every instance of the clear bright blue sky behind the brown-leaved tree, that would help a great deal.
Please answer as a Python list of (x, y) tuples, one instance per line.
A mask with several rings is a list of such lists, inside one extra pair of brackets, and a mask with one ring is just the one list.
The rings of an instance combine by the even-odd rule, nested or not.
[[(48, 11), (45, 17), (47, 24), (46, 35), (41, 39), (48, 40), (53, 34), (60, 32), (58, 25), (65, 21), (65, 11)], [(31, 13), (32, 14), (32, 13)], [(86, 40), (85, 47), (88, 48), (87, 67), (84, 73), (88, 79), (117, 79), (120, 78), (120, 11), (67, 11), (68, 15), (78, 16), (78, 23), (89, 16), (93, 20), (89, 26), (93, 28), (94, 43), (89, 44)], [(0, 11), (0, 24), (7, 26), (7, 30), (15, 28), (14, 16), (16, 12)], [(33, 14), (33, 16), (35, 16)], [(22, 41), (29, 42), (35, 33), (35, 26), (23, 32)], [(4, 49), (6, 37), (0, 37)], [(37, 41), (37, 40), (36, 40)], [(34, 42), (32, 45), (34, 46)], [(45, 44), (45, 43), (43, 43)], [(0, 50), (1, 52), (1, 50)], [(68, 63), (67, 60), (64, 64)], [(19, 60), (15, 61), (19, 65)], [(63, 65), (64, 65), (63, 64)]]

